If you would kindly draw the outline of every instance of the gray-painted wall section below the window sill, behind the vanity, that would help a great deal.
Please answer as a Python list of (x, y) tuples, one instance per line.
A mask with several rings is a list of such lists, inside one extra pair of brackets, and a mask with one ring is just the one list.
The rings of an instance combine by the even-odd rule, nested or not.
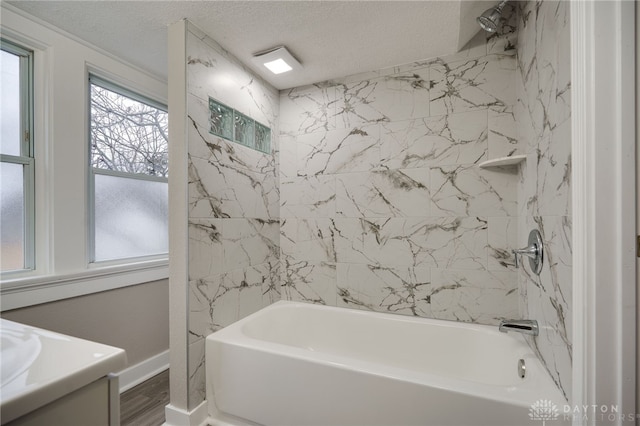
[(169, 349), (169, 280), (14, 309), (2, 318), (122, 348), (131, 366)]

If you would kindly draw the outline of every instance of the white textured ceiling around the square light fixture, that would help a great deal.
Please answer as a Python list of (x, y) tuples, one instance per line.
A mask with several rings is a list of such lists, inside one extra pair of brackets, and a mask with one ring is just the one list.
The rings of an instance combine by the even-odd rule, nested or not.
[[(164, 79), (167, 25), (186, 18), (278, 89), (454, 53), (478, 31), (475, 22), (461, 26), (461, 16), (486, 6), (459, 1), (7, 3)], [(278, 45), (302, 62), (300, 73), (271, 76), (251, 63), (253, 53)]]

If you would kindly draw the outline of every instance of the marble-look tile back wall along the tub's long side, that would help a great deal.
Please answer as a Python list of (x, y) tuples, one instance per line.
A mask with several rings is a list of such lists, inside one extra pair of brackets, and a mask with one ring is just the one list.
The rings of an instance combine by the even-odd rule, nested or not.
[(456, 55), (280, 93), (282, 297), (518, 315), (514, 9)]

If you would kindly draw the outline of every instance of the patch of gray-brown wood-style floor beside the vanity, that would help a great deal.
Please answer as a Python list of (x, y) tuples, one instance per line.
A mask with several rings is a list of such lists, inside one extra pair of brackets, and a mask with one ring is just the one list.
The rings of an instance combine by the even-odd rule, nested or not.
[(121, 426), (159, 426), (169, 404), (169, 370), (120, 395)]

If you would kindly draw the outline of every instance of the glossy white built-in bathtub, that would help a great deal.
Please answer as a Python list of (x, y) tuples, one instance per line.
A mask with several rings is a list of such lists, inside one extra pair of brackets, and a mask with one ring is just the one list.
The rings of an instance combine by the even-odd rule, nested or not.
[(518, 334), (295, 302), (208, 336), (206, 370), (212, 424), (535, 425), (536, 401), (566, 404)]

